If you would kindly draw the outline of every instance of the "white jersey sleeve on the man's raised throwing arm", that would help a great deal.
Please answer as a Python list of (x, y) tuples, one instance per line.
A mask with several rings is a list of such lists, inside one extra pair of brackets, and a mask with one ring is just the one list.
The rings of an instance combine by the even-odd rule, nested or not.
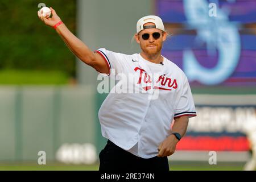
[(105, 48), (97, 49), (94, 52), (97, 52), (103, 57), (109, 69), (108, 75), (105, 73), (99, 72), (101, 75), (114, 77), (118, 73), (122, 73), (123, 64), (122, 64), (122, 56), (120, 53), (108, 51)]

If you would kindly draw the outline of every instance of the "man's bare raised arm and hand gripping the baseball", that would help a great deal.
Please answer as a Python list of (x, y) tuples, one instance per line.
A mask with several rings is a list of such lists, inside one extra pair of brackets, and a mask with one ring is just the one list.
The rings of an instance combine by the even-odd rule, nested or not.
[[(56, 14), (55, 10), (50, 7), (52, 18), (49, 16), (43, 17), (42, 13), (38, 11), (38, 17), (50, 27), (55, 26), (57, 23), (61, 22), (60, 17)], [(77, 38), (64, 23), (59, 24), (56, 27), (57, 33), (67, 44), (68, 48), (85, 64), (90, 65), (98, 72), (109, 73), (108, 66), (106, 65), (104, 58), (98, 53), (92, 52), (79, 38)]]

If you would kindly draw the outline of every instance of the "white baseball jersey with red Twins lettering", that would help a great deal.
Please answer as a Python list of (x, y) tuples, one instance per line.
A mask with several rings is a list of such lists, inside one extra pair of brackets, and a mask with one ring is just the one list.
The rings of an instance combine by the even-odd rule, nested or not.
[(165, 57), (162, 64), (155, 64), (139, 53), (125, 55), (105, 48), (96, 52), (104, 57), (109, 76), (119, 80), (98, 112), (103, 137), (142, 158), (158, 155), (173, 119), (196, 116), (184, 72)]

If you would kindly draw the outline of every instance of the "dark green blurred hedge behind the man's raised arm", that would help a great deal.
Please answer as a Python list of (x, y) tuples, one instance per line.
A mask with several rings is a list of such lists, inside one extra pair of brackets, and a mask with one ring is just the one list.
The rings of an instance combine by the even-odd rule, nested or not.
[[(37, 15), (42, 1), (0, 0), (0, 69), (63, 71), (75, 75), (75, 56)], [(75, 34), (76, 1), (44, 1)]]

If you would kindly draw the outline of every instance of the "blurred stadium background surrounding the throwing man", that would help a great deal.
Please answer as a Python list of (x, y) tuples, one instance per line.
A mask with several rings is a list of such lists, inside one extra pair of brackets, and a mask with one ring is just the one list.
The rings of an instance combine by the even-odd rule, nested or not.
[[(243, 169), (250, 159), (244, 125), (256, 122), (256, 1), (0, 0), (0, 170), (97, 170), (106, 142), (97, 73), (40, 22), (39, 3), (91, 49), (123, 53), (139, 52), (131, 43), (139, 18), (161, 16), (171, 34), (163, 55), (188, 76), (198, 115), (170, 168)], [(210, 151), (217, 164), (209, 164)]]

